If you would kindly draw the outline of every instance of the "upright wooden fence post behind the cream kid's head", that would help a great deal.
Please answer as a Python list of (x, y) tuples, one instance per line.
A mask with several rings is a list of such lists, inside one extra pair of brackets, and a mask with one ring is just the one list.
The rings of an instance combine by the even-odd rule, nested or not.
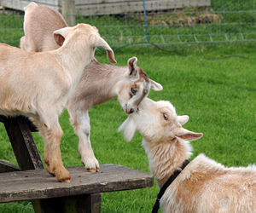
[(75, 1), (74, 0), (62, 0), (61, 14), (67, 21), (68, 26), (75, 26)]

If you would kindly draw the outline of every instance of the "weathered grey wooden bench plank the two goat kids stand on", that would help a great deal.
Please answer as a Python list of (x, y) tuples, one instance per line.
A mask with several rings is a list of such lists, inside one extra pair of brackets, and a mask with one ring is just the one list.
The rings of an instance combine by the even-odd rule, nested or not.
[(84, 166), (70, 167), (71, 182), (56, 181), (47, 170), (27, 170), (0, 174), (0, 203), (49, 199), (80, 194), (106, 193), (153, 187), (153, 176), (121, 165), (102, 164), (90, 173)]

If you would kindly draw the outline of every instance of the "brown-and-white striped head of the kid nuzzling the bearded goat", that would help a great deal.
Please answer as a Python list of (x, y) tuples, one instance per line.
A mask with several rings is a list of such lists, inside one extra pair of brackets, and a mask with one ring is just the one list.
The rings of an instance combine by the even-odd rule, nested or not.
[(141, 67), (137, 66), (137, 58), (128, 60), (128, 71), (125, 74), (125, 82), (119, 89), (118, 99), (125, 113), (131, 114), (137, 110), (143, 98), (148, 96), (149, 89), (159, 91), (163, 89), (160, 83), (149, 79)]

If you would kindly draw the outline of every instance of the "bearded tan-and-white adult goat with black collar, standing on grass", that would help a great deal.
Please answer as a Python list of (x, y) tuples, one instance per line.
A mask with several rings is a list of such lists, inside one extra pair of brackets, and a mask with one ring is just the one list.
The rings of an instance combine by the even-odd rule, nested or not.
[[(192, 153), (189, 141), (201, 133), (185, 130), (188, 116), (178, 117), (168, 101), (144, 99), (137, 112), (119, 127), (126, 140), (138, 131), (148, 154), (149, 168), (159, 187)], [(193, 159), (160, 199), (163, 212), (256, 212), (256, 167), (225, 168), (205, 155)]]

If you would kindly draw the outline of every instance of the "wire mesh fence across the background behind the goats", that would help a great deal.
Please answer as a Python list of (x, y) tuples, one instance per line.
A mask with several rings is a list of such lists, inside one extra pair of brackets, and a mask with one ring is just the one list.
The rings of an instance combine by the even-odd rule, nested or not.
[[(60, 11), (63, 3), (58, 0), (35, 2)], [(170, 45), (256, 41), (254, 0), (71, 2), (74, 7), (70, 15), (75, 15), (75, 22), (96, 26), (112, 47), (132, 43)], [(20, 10), (25, 3), (29, 1), (2, 0), (0, 42), (19, 45), (23, 36), (23, 13)]]

